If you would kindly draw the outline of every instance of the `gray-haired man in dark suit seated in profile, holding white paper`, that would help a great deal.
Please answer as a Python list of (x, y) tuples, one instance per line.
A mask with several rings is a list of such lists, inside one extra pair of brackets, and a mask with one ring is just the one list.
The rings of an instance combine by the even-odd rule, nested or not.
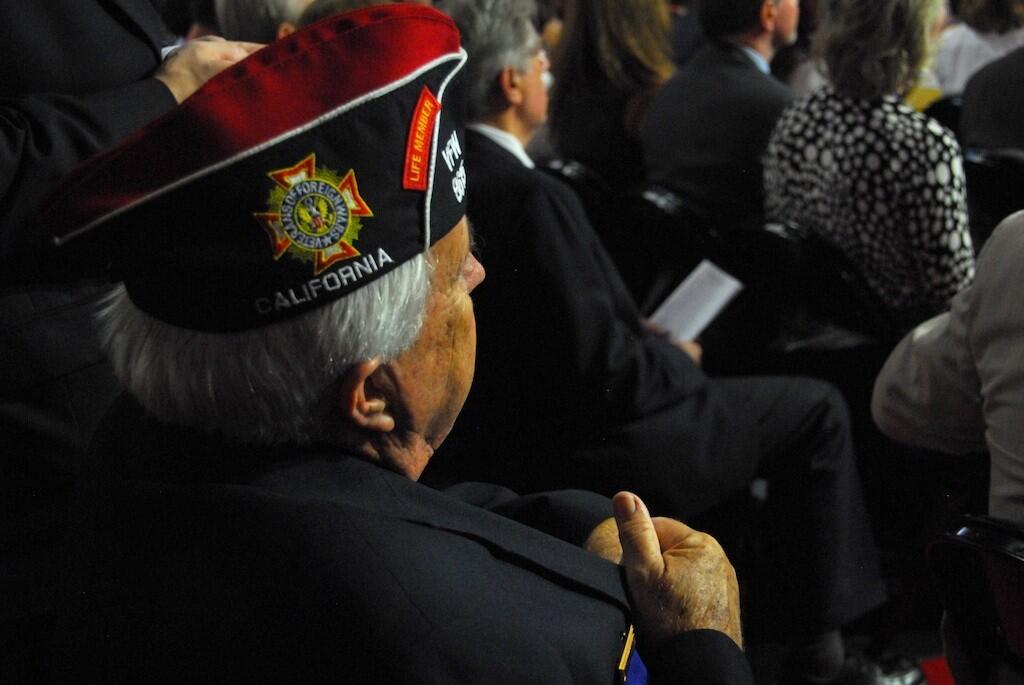
[(766, 527), (788, 541), (766, 545), (796, 648), (786, 682), (830, 682), (839, 627), (884, 597), (843, 400), (807, 379), (710, 379), (649, 331), (579, 200), (523, 152), (546, 99), (528, 3), (438, 6), (469, 52), (468, 216), (489, 275), (474, 295), (477, 388), (427, 477), (605, 494), (621, 481), (677, 516), (767, 477)]

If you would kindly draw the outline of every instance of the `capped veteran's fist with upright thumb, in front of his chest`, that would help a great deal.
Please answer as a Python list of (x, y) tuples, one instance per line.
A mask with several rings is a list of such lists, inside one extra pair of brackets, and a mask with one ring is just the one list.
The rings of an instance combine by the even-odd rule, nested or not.
[(742, 647), (736, 572), (711, 536), (651, 518), (632, 493), (612, 499), (623, 565), (641, 645), (657, 648), (685, 631), (721, 631)]

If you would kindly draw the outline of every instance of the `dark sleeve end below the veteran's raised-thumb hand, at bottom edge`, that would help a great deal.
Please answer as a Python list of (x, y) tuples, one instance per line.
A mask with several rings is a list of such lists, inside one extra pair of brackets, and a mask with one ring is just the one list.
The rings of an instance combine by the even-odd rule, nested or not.
[(753, 685), (750, 663), (725, 633), (689, 631), (652, 654), (640, 649), (651, 685)]

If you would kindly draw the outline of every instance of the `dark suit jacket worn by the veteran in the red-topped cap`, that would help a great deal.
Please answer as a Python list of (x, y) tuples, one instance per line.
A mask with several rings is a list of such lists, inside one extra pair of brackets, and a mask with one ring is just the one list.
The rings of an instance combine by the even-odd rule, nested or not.
[[(227, 447), (130, 399), (95, 452), (58, 641), (76, 680), (613, 682), (621, 569), (575, 546), (603, 498), (441, 494), (327, 447)], [(644, 656), (653, 683), (752, 682), (713, 631)]]

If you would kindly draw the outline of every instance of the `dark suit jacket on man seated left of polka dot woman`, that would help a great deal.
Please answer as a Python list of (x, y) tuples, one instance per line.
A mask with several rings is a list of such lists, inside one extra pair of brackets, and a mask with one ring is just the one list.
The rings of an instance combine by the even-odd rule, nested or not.
[(640, 135), (647, 180), (716, 224), (760, 222), (761, 157), (792, 99), (741, 49), (709, 40), (654, 95)]

